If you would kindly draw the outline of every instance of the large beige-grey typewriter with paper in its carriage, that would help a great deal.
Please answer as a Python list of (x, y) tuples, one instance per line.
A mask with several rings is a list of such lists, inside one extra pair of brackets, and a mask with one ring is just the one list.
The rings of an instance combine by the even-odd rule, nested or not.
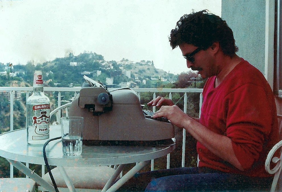
[(174, 127), (166, 118), (152, 118), (142, 110), (135, 91), (119, 88), (108, 91), (101, 82), (84, 76), (69, 116), (84, 118), (85, 145), (173, 145)]

